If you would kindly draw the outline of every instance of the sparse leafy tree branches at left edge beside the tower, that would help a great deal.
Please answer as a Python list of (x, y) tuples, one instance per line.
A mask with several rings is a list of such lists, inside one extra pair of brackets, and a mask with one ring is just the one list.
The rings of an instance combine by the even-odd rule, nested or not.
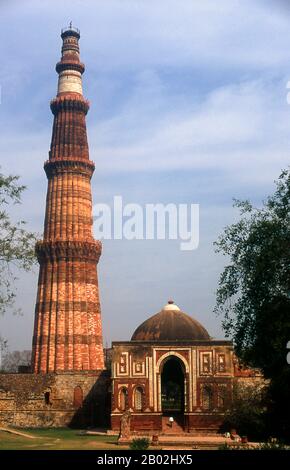
[(14, 304), (15, 272), (29, 271), (36, 260), (35, 234), (25, 230), (23, 220), (12, 221), (8, 211), (11, 205), (21, 202), (25, 190), (18, 180), (18, 176), (0, 173), (0, 314)]

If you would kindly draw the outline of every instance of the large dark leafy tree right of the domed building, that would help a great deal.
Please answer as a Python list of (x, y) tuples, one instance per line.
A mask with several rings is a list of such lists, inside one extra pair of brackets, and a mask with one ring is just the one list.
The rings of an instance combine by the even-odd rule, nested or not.
[[(275, 410), (277, 427), (290, 438), (290, 171), (282, 172), (261, 208), (249, 201), (236, 200), (234, 205), (240, 220), (226, 227), (215, 243), (216, 251), (229, 259), (220, 276), (215, 311), (223, 316), (237, 355), (270, 379), (269, 410)], [(283, 427), (282, 421), (288, 425)]]

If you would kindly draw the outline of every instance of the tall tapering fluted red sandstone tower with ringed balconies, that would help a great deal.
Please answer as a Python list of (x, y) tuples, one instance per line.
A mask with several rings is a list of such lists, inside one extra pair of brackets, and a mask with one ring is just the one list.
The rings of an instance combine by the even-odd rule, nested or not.
[(99, 370), (104, 367), (97, 263), (101, 243), (92, 235), (89, 160), (82, 94), (84, 65), (79, 31), (62, 31), (56, 65), (57, 96), (49, 160), (44, 238), (36, 245), (40, 264), (32, 364), (35, 373)]

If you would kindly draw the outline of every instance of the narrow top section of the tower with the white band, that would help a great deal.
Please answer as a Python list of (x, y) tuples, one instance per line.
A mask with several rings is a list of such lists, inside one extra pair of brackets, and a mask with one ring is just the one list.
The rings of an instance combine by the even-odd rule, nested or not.
[(61, 59), (56, 64), (56, 71), (59, 75), (57, 95), (72, 93), (82, 95), (82, 74), (85, 66), (80, 61), (80, 31), (70, 23), (68, 28), (62, 29), (61, 38)]

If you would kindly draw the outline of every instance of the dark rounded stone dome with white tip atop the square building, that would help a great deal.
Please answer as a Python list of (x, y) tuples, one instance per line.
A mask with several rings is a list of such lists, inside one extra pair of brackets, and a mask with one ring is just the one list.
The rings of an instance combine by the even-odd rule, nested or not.
[(210, 340), (206, 329), (172, 300), (134, 331), (131, 341)]

